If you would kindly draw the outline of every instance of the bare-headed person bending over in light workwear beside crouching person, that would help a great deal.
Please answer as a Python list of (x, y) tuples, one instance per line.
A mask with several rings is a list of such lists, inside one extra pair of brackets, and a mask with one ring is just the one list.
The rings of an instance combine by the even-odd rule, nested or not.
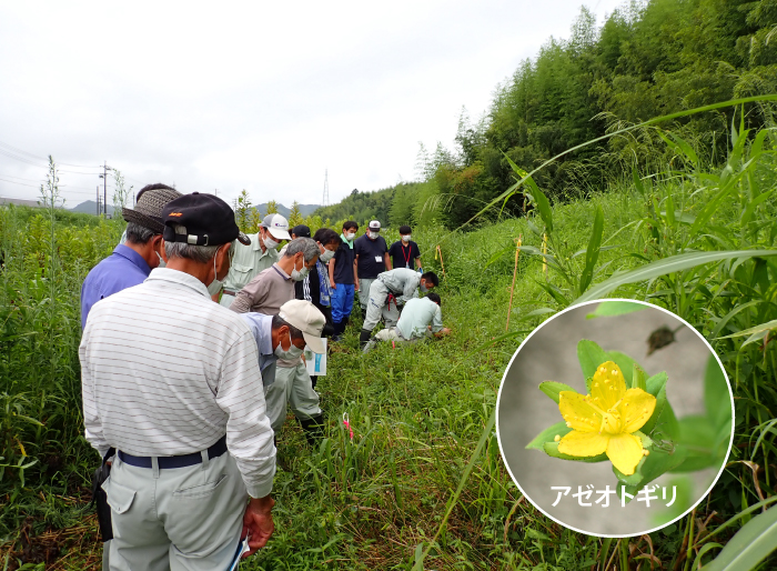
[(396, 268), (381, 273), (370, 288), (370, 304), (359, 337), (362, 349), (370, 341), (372, 330), (381, 317), (385, 320), (386, 328), (396, 327), (400, 307), (417, 298), (418, 290), (427, 292), (438, 284), (440, 279), (434, 272), (418, 273), (406, 268)]

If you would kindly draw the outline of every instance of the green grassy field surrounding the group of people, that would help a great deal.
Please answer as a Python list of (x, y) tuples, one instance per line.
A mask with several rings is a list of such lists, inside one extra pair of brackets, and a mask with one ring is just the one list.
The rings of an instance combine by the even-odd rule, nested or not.
[[(414, 230), (424, 268), (441, 274), (434, 246), (442, 242), (440, 293), (453, 334), (364, 357), (357, 323), (350, 330), (317, 387), (327, 438), (311, 450), (289, 419), (273, 492), (275, 534), (243, 569), (689, 570), (712, 560), (719, 550), (708, 545), (725, 544), (775, 499), (769, 335), (777, 327), (770, 323), (777, 177), (771, 156), (756, 152), (753, 133), (741, 134), (747, 144), (740, 141), (738, 154), (735, 146), (724, 168), (703, 172), (684, 159), (683, 170), (552, 208), (535, 193), (528, 218), (452, 236)], [(85, 507), (98, 457), (81, 437), (78, 299), (81, 280), (111, 251), (121, 226), (67, 217), (52, 232), (50, 214), (1, 212), (0, 564), (98, 569), (95, 522)], [(592, 240), (597, 221), (601, 243)], [(536, 256), (543, 234), (553, 257), (547, 272)], [(505, 335), (518, 236), (526, 248)], [(593, 262), (585, 254), (592, 243)], [(730, 253), (739, 250), (764, 252)], [(677, 259), (672, 271), (642, 278), (628, 273), (705, 252), (719, 257), (704, 264)], [(629, 540), (571, 532), (537, 512), (509, 480), (492, 424), (504, 368), (521, 340), (606, 278), (623, 284), (601, 288), (602, 295), (665, 307), (707, 337), (736, 395), (735, 447), (709, 498), (676, 524)]]

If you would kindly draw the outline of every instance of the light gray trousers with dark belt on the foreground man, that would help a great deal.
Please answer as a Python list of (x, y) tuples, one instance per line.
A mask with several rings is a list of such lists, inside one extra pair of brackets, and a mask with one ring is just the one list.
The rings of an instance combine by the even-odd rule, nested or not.
[(113, 518), (112, 571), (228, 569), (249, 494), (229, 452), (203, 458), (162, 470), (113, 460), (102, 484)]

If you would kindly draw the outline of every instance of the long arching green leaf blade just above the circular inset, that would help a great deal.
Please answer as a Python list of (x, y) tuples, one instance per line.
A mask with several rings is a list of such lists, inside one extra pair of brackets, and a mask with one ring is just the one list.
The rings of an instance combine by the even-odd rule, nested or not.
[(650, 262), (642, 268), (632, 270), (625, 273), (613, 276), (608, 280), (597, 283), (583, 295), (572, 302), (573, 305), (601, 299), (607, 295), (610, 291), (627, 283), (639, 281), (654, 280), (660, 276), (677, 271), (688, 270), (705, 263), (717, 262), (722, 260), (731, 260), (734, 258), (759, 258), (766, 256), (777, 256), (777, 250), (726, 250), (714, 252), (688, 252), (664, 258), (655, 262)]

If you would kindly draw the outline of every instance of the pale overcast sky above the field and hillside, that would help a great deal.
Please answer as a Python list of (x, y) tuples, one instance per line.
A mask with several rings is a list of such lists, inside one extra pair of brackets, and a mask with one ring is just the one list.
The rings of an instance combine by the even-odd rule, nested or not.
[(69, 208), (103, 161), (230, 203), (321, 203), (325, 170), (330, 202), (411, 181), (418, 142), (452, 147), (581, 6), (1, 0), (0, 197), (37, 198), (49, 154)]

